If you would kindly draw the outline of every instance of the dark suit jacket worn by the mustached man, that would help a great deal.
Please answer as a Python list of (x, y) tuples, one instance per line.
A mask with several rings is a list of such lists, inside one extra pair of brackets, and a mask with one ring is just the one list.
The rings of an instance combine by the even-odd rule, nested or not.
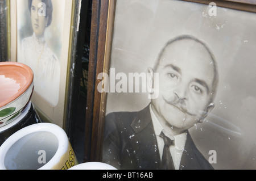
[[(149, 106), (139, 112), (114, 112), (106, 116), (102, 162), (117, 169), (159, 169), (157, 145)], [(180, 169), (213, 169), (189, 133)]]

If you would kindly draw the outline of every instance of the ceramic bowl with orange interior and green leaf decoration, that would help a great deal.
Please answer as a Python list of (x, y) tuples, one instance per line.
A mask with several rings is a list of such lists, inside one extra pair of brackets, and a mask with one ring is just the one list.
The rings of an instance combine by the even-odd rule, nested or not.
[(0, 127), (14, 121), (31, 100), (34, 74), (19, 62), (0, 62)]

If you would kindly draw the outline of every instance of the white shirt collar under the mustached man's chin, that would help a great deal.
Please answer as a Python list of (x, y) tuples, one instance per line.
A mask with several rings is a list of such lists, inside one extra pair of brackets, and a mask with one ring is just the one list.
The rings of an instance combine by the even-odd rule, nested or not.
[(159, 123), (157, 117), (155, 116), (154, 111), (151, 108), (151, 104), (150, 104), (150, 114), (151, 114), (151, 119), (153, 122), (156, 136), (159, 136), (160, 133), (163, 131), (163, 133), (166, 134), (166, 136), (170, 137), (172, 140), (175, 140), (175, 148), (177, 150), (184, 150), (185, 142), (187, 140), (187, 133), (185, 132), (177, 135), (170, 135), (166, 131), (164, 131), (162, 124)]

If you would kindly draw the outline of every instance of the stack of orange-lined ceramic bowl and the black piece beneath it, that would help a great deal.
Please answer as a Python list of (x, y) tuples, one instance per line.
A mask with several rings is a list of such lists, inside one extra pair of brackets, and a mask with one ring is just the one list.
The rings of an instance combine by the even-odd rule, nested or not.
[(39, 123), (31, 103), (34, 74), (18, 62), (0, 62), (0, 145), (14, 132)]

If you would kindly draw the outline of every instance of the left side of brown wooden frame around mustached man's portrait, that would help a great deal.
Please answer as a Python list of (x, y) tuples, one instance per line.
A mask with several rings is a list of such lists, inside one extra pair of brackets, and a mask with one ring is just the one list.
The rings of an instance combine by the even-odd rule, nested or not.
[[(87, 107), (86, 107), (86, 123), (85, 123), (85, 150), (84, 161), (101, 161), (101, 145), (102, 145), (102, 131), (104, 116), (100, 113), (101, 96), (95, 89), (96, 76), (102, 72), (105, 67), (108, 67), (108, 60), (105, 60), (105, 50), (111, 44), (106, 39), (111, 39), (112, 26), (114, 18), (115, 1), (93, 1), (92, 5), (92, 23), (90, 34), (90, 53), (89, 53), (89, 75), (88, 75), (88, 90), (87, 90)], [(108, 24), (109, 22), (109, 24)], [(108, 29), (109, 28), (109, 29)], [(107, 33), (108, 32), (108, 33)], [(108, 34), (108, 36), (106, 36)], [(111, 45), (110, 45), (111, 46)], [(110, 48), (110, 47), (109, 47)], [(109, 51), (109, 48), (108, 51)], [(108, 52), (109, 53), (109, 52)], [(100, 118), (101, 117), (101, 118)], [(96, 121), (96, 122), (95, 122)], [(100, 138), (100, 139), (98, 139)]]

